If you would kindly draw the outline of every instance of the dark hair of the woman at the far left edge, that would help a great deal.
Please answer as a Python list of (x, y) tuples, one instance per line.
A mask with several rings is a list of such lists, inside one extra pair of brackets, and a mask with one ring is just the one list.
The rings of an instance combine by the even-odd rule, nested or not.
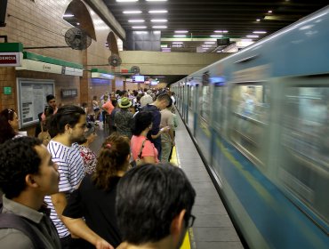
[(0, 143), (11, 140), (15, 135), (12, 125), (8, 123), (13, 120), (15, 111), (12, 108), (5, 108), (0, 112)]

